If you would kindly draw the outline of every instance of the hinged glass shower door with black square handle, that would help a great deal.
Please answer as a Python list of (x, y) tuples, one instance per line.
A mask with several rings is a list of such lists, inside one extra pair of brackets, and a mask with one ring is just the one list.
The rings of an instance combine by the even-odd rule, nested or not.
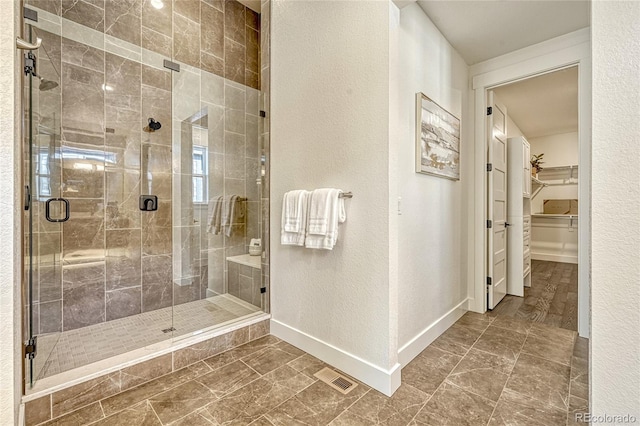
[[(41, 47), (25, 51), (25, 341), (28, 386), (46, 369), (62, 331), (62, 224), (69, 202), (62, 196), (60, 152), (60, 54), (55, 36), (25, 25), (27, 40)], [(47, 318), (40, 321), (41, 316)], [(36, 356), (37, 355), (37, 356)]]

